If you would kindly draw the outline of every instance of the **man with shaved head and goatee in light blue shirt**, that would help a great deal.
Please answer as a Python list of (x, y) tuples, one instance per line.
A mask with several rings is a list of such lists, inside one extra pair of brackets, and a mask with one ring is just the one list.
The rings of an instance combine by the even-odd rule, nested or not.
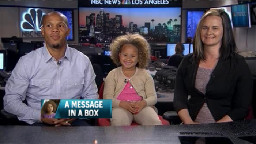
[[(6, 85), (4, 109), (30, 125), (89, 125), (80, 119), (41, 119), (40, 99), (98, 99), (90, 60), (67, 45), (68, 20), (45, 16), (44, 47), (21, 57)], [(26, 99), (27, 104), (23, 103)]]

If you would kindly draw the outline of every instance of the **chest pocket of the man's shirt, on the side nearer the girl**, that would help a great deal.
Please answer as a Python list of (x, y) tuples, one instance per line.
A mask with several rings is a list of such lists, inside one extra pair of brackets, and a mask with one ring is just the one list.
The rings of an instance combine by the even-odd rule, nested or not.
[(66, 83), (66, 95), (69, 97), (80, 97), (82, 96), (84, 77), (67, 79)]

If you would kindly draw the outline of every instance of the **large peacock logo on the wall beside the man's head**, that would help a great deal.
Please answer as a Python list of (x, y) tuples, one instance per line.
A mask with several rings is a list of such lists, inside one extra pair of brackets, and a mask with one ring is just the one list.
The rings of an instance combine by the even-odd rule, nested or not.
[(29, 9), (22, 15), (21, 28), (23, 31), (40, 31), (45, 13), (41, 9)]

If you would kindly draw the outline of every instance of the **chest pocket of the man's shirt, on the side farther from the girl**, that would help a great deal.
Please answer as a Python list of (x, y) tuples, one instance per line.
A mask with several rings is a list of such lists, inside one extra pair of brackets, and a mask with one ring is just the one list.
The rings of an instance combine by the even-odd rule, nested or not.
[(36, 95), (43, 96), (50, 94), (50, 88), (52, 85), (51, 79), (37, 79), (31, 80), (31, 89)]

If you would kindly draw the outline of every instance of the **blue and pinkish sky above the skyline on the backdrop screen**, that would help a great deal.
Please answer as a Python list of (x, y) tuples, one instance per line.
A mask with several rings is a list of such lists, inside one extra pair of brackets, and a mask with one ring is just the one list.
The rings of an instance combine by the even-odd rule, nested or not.
[[(133, 22), (139, 27), (144, 27), (145, 23), (150, 23), (150, 29), (153, 29), (152, 19), (154, 19), (154, 27), (159, 23), (163, 25), (172, 19), (170, 27), (174, 24), (181, 24), (181, 8), (79, 8), (79, 27), (86, 26), (86, 16), (91, 13), (99, 14), (103, 9), (104, 13), (109, 13), (110, 18), (116, 15), (122, 15), (123, 26), (129, 27), (129, 22)], [(174, 20), (177, 19), (176, 22)]]

